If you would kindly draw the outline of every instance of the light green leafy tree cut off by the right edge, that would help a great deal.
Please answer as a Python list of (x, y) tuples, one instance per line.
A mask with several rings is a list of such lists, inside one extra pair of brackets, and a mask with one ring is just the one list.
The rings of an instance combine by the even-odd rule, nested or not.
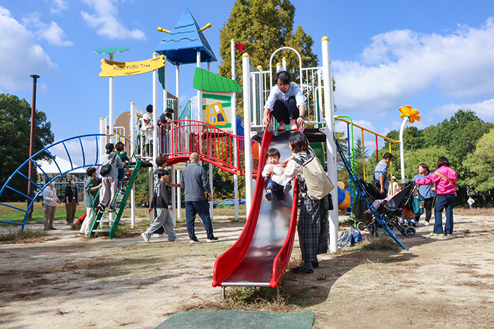
[(494, 190), (494, 129), (478, 139), (475, 150), (463, 163), (470, 173), (466, 185), (481, 194)]

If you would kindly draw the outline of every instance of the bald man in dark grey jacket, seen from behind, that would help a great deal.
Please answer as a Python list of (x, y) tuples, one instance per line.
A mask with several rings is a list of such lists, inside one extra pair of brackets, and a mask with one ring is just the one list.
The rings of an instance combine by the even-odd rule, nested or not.
[(207, 179), (206, 170), (199, 166), (200, 156), (197, 153), (191, 154), (191, 164), (182, 170), (181, 185), (185, 191), (186, 218), (188, 237), (191, 243), (199, 243), (195, 236), (195, 215), (199, 214), (203, 220), (204, 228), (207, 232), (206, 242), (217, 242), (218, 238), (212, 234), (212, 224), (209, 206), (204, 192), (207, 192), (209, 201), (212, 201), (210, 182)]

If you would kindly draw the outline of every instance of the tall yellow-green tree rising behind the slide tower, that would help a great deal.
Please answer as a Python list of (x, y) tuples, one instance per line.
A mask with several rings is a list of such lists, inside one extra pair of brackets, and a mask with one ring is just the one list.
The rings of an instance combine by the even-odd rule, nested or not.
[[(299, 51), (303, 67), (317, 66), (318, 57), (313, 54), (313, 39), (301, 26), (294, 32), (295, 7), (289, 0), (237, 0), (230, 17), (219, 32), (219, 54), (222, 62), (219, 75), (231, 77), (230, 40), (245, 44), (251, 65), (269, 68), (271, 54), (282, 46)], [(242, 76), (242, 54), (235, 51), (236, 80)], [(273, 65), (287, 58), (287, 70), (294, 81), (299, 79), (299, 58), (293, 51), (279, 51)], [(275, 69), (275, 68), (273, 68)], [(242, 95), (237, 93), (237, 113), (243, 112)]]

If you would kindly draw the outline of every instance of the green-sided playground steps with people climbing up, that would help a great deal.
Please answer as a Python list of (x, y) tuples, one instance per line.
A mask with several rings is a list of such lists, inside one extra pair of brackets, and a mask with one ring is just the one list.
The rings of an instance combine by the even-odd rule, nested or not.
[[(140, 166), (142, 165), (142, 163), (143, 163), (143, 161), (138, 160), (137, 162), (135, 162), (135, 166), (132, 169), (130, 169), (131, 167), (129, 166), (127, 171), (131, 171), (131, 176), (126, 183), (124, 182), (124, 185), (126, 187), (126, 191), (123, 194), (123, 197), (120, 201), (119, 208), (116, 209), (113, 221), (110, 221), (109, 219), (105, 220), (103, 217), (104, 212), (98, 210), (98, 212), (96, 214), (96, 218), (95, 218), (95, 223), (93, 223), (92, 228), (90, 229), (90, 232), (89, 232), (90, 238), (92, 236), (92, 232), (109, 232), (109, 238), (110, 239), (112, 239), (115, 236), (116, 228), (119, 225), (120, 218), (121, 218), (121, 216), (123, 214), (123, 210), (125, 209), (125, 206), (127, 204), (128, 197), (130, 197), (130, 195), (131, 195), (132, 186), (134, 185), (135, 179), (137, 178), (137, 175), (139, 173), (139, 169), (140, 169)], [(116, 193), (113, 204), (115, 204), (115, 200), (116, 200), (116, 197), (118, 195), (119, 195), (119, 192)], [(108, 229), (101, 228), (101, 226), (102, 226), (101, 224), (108, 224), (109, 228)], [(100, 226), (100, 228), (98, 228), (98, 226)]]

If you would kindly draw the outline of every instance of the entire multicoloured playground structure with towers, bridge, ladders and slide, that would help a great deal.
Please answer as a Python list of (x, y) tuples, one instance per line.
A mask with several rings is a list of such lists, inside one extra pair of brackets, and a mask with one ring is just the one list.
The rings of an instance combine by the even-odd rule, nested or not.
[[(246, 82), (243, 85), (243, 89), (235, 85), (234, 80), (224, 80), (226, 78), (217, 77), (212, 75), (210, 71), (211, 61), (216, 61), (216, 58), (210, 51), (209, 44), (205, 41), (202, 34), (203, 29), (199, 29), (197, 23), (193, 19), (192, 15), (184, 11), (181, 20), (177, 23), (174, 30), (167, 31), (169, 36), (183, 34), (180, 29), (184, 26), (193, 27), (193, 42), (200, 42), (199, 44), (176, 44), (173, 37), (165, 37), (163, 41), (157, 47), (157, 53), (160, 56), (155, 55), (152, 58), (152, 62), (156, 63), (153, 66), (153, 101), (152, 105), (155, 111), (152, 113), (152, 122), (155, 124), (155, 130), (153, 131), (153, 152), (152, 156), (148, 159), (142, 157), (136, 157), (135, 150), (142, 147), (136, 144), (139, 140), (139, 135), (135, 134), (137, 125), (137, 118), (142, 116), (143, 111), (137, 110), (134, 104), (131, 104), (131, 118), (130, 118), (130, 142), (129, 147), (133, 150), (131, 158), (134, 161), (133, 166), (128, 167), (128, 171), (131, 172), (129, 179), (126, 181), (126, 192), (121, 199), (118, 210), (116, 211), (115, 218), (112, 218), (113, 213), (109, 214), (108, 221), (102, 219), (103, 213), (98, 211), (95, 224), (92, 226), (92, 232), (98, 232), (98, 226), (102, 226), (103, 223), (108, 223), (109, 228), (104, 229), (104, 232), (109, 232), (109, 237), (114, 236), (116, 225), (119, 223), (119, 218), (123, 212), (123, 207), (126, 204), (127, 199), (131, 199), (131, 209), (135, 209), (134, 201), (134, 181), (138, 170), (142, 166), (149, 167), (150, 174), (150, 190), (152, 189), (152, 166), (155, 166), (155, 159), (157, 158), (158, 149), (159, 154), (168, 157), (168, 164), (176, 166), (179, 163), (188, 161), (188, 157), (193, 152), (198, 152), (201, 159), (209, 163), (210, 168), (210, 182), (212, 182), (212, 166), (215, 165), (222, 170), (227, 170), (234, 175), (246, 176), (246, 209), (248, 218), (246, 225), (241, 232), (239, 240), (222, 256), (219, 256), (215, 262), (213, 273), (213, 286), (221, 286), (223, 288), (227, 286), (270, 286), (279, 287), (279, 281), (282, 278), (284, 270), (287, 268), (288, 261), (291, 256), (291, 249), (294, 243), (294, 235), (296, 229), (296, 218), (298, 212), (298, 197), (296, 182), (294, 182), (294, 189), (283, 199), (275, 199), (271, 203), (268, 203), (263, 198), (264, 191), (264, 179), (258, 175), (260, 168), (265, 165), (265, 153), (269, 147), (277, 147), (282, 152), (282, 158), (287, 158), (290, 154), (288, 148), (288, 137), (290, 132), (273, 132), (270, 127), (276, 128), (276, 123), (270, 122), (267, 126), (262, 124), (263, 120), (263, 104), (267, 95), (272, 87), (272, 73), (274, 71), (272, 61), (279, 51), (294, 51), (299, 58), (299, 85), (306, 95), (306, 126), (313, 128), (301, 129), (308, 136), (310, 142), (323, 143), (323, 152), (320, 154), (320, 158), (323, 159), (323, 163), (327, 163), (327, 175), (333, 182), (336, 182), (336, 152), (337, 145), (333, 139), (334, 135), (334, 104), (332, 96), (332, 79), (330, 72), (330, 54), (329, 54), (329, 39), (323, 37), (321, 40), (321, 46), (323, 49), (322, 67), (317, 68), (303, 68), (300, 54), (290, 47), (282, 47), (277, 49), (270, 57), (269, 70), (263, 70), (262, 68), (253, 69), (249, 63), (248, 54), (243, 54), (243, 81)], [(191, 36), (183, 35), (183, 39), (191, 39)], [(183, 41), (179, 40), (179, 42)], [(113, 61), (113, 54), (116, 51), (109, 52), (115, 49), (102, 51), (101, 54), (110, 54), (110, 61), (102, 60), (102, 63), (109, 66), (121, 67), (121, 63)], [(157, 59), (156, 59), (157, 58)], [(150, 60), (149, 60), (150, 61)], [(170, 123), (165, 123), (161, 126), (160, 134), (158, 138), (157, 129), (157, 82), (158, 82), (158, 70), (162, 69), (162, 80), (164, 86), (163, 104), (164, 110), (169, 102), (167, 101), (167, 61), (175, 64), (176, 66), (176, 97), (179, 96), (179, 66), (185, 63), (196, 63), (196, 74), (200, 76), (196, 80), (194, 77), (194, 87), (198, 89), (198, 95), (195, 99), (191, 100), (190, 116), (189, 119), (174, 120)], [(206, 62), (208, 70), (200, 69), (200, 63)], [(102, 65), (103, 68), (103, 65)], [(285, 68), (286, 63), (277, 66), (277, 70)], [(103, 72), (103, 71), (102, 71)], [(144, 72), (140, 72), (144, 73)], [(140, 74), (139, 73), (139, 74)], [(100, 74), (101, 75), (101, 74)], [(107, 76), (107, 75), (104, 75)], [(119, 131), (119, 127), (114, 127), (113, 123), (113, 76), (110, 77), (110, 115), (107, 123), (104, 120), (100, 120), (100, 129), (107, 131), (111, 134), (99, 134), (88, 135), (95, 137), (96, 158), (95, 161), (87, 162), (83, 161), (83, 165), (77, 168), (83, 168), (85, 166), (99, 166), (101, 163), (102, 152), (99, 150), (104, 149), (106, 142), (115, 142), (120, 137), (126, 137), (126, 131)], [(218, 87), (219, 81), (226, 82), (229, 87)], [(214, 83), (213, 83), (214, 82)], [(214, 90), (217, 89), (217, 90)], [(237, 120), (235, 115), (235, 92), (243, 92), (243, 123), (244, 123), (244, 136), (237, 135)], [(212, 92), (224, 92), (228, 95), (212, 94)], [(212, 96), (211, 96), (212, 95)], [(211, 97), (217, 101), (207, 103), (205, 99)], [(228, 102), (228, 97), (231, 101)], [(227, 106), (229, 103), (229, 106)], [(179, 102), (177, 101), (177, 106)], [(225, 108), (230, 107), (230, 113)], [(323, 109), (325, 111), (323, 111)], [(163, 111), (164, 111), (163, 110)], [(181, 113), (179, 113), (181, 118)], [(206, 118), (206, 121), (203, 120)], [(229, 118), (229, 123), (225, 122), (225, 118)], [(221, 129), (230, 125), (231, 132)], [(262, 144), (260, 147), (255, 144), (253, 137), (262, 136)], [(74, 139), (80, 137), (74, 137)], [(62, 141), (59, 143), (64, 143)], [(59, 144), (56, 143), (56, 144)], [(54, 145), (56, 145), (54, 144)], [(80, 142), (81, 147), (83, 145)], [(126, 143), (127, 144), (127, 143)], [(49, 149), (54, 145), (45, 148)], [(65, 145), (64, 145), (65, 147)], [(65, 147), (69, 161), (71, 156)], [(40, 151), (40, 152), (42, 152)], [(40, 152), (35, 156), (40, 155)], [(84, 151), (83, 151), (84, 154)], [(326, 154), (326, 156), (324, 156)], [(20, 174), (23, 166), (30, 161), (34, 162), (35, 156), (25, 161), (15, 174)], [(53, 156), (52, 156), (52, 159)], [(84, 158), (85, 159), (85, 158)], [(326, 161), (327, 159), (327, 161)], [(73, 168), (74, 169), (74, 168)], [(172, 167), (171, 171), (172, 182), (178, 180), (180, 171)], [(63, 175), (64, 173), (60, 173)], [(22, 174), (20, 174), (22, 175)], [(59, 176), (60, 176), (59, 175)], [(59, 177), (57, 176), (57, 178)], [(255, 187), (253, 187), (253, 178), (256, 178)], [(56, 179), (56, 178), (54, 178)], [(54, 180), (53, 179), (53, 180)], [(8, 180), (10, 181), (10, 179)], [(8, 182), (7, 182), (8, 183)], [(8, 185), (4, 185), (1, 192), (8, 188)], [(40, 192), (47, 185), (36, 185)], [(16, 191), (18, 192), (18, 191)], [(38, 192), (38, 194), (40, 194)], [(37, 195), (38, 195), (37, 194)], [(338, 204), (348, 202), (349, 195), (347, 192), (337, 188), (332, 190), (332, 199), (338, 200)], [(23, 194), (24, 195), (24, 194)], [(178, 195), (180, 195), (178, 193)], [(37, 196), (36, 196), (37, 197)], [(32, 203), (36, 199), (30, 199), (31, 203), (28, 206), (26, 214), (32, 208)], [(175, 199), (175, 194), (172, 194), (172, 204), (180, 199)], [(114, 200), (115, 202), (115, 200)], [(236, 206), (238, 203), (236, 202)], [(346, 207), (346, 206), (345, 206)], [(21, 210), (21, 209), (18, 209)], [(212, 204), (211, 204), (212, 212)], [(27, 216), (27, 215), (26, 215)], [(175, 216), (174, 216), (175, 218)], [(135, 221), (135, 213), (132, 213), (132, 224)], [(18, 223), (13, 223), (18, 224)], [(23, 227), (25, 225), (25, 219), (23, 221)], [(330, 211), (330, 252), (337, 252), (337, 232), (338, 232), (338, 214), (337, 207)], [(388, 232), (388, 231), (387, 231)], [(393, 237), (393, 233), (389, 230), (388, 234)], [(393, 237), (397, 240), (396, 236)], [(399, 242), (399, 240), (397, 240)], [(402, 246), (403, 247), (403, 246)]]

